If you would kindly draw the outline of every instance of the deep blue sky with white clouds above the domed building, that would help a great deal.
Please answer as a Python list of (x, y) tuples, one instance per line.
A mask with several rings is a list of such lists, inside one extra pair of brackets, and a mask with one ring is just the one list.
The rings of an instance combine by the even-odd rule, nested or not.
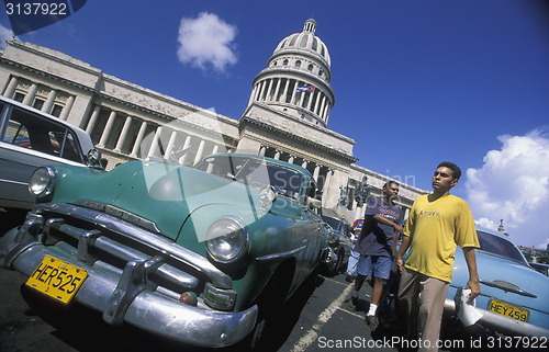
[[(332, 57), (328, 128), (357, 164), (452, 193), (515, 243), (549, 243), (549, 2), (93, 0), (19, 39), (239, 118), (276, 46), (314, 18)], [(0, 11), (0, 37), (12, 36)], [(2, 41), (3, 44), (3, 41)]]

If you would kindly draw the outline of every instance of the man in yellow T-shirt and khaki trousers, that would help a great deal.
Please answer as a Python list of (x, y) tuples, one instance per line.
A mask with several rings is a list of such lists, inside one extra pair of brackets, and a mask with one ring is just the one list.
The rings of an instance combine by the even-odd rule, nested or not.
[[(444, 303), (453, 270), (457, 246), (463, 249), (471, 289), (469, 302), (480, 294), (474, 248), (479, 239), (469, 205), (450, 194), (461, 170), (441, 162), (433, 175), (433, 193), (419, 196), (412, 206), (396, 256), (402, 272), (399, 305), (407, 317), (407, 338), (421, 339), (419, 351), (437, 351)], [(406, 263), (402, 257), (410, 248)]]

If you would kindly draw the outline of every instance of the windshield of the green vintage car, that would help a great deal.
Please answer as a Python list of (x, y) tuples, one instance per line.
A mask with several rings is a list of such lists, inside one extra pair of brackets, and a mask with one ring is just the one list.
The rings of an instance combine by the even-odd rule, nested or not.
[(210, 157), (195, 167), (208, 173), (244, 182), (255, 188), (272, 185), (279, 194), (296, 198), (303, 185), (303, 175), (294, 170), (242, 157)]

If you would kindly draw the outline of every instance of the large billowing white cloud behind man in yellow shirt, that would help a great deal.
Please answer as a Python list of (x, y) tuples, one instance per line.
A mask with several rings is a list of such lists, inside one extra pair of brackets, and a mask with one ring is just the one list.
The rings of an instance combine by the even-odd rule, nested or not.
[(525, 136), (500, 136), (480, 169), (467, 170), (467, 197), (479, 223), (505, 231), (516, 245), (549, 243), (549, 126)]

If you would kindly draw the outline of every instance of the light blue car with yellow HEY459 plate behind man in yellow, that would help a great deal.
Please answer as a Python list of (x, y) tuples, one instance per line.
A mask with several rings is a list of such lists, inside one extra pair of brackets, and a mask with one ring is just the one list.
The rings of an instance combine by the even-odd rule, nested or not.
[[(549, 277), (531, 270), (507, 236), (480, 227), (477, 232), (481, 294), (475, 304), (482, 313), (477, 323), (509, 336), (549, 338)], [(460, 309), (461, 287), (468, 280), (463, 253), (458, 248), (446, 314), (455, 315)]]

